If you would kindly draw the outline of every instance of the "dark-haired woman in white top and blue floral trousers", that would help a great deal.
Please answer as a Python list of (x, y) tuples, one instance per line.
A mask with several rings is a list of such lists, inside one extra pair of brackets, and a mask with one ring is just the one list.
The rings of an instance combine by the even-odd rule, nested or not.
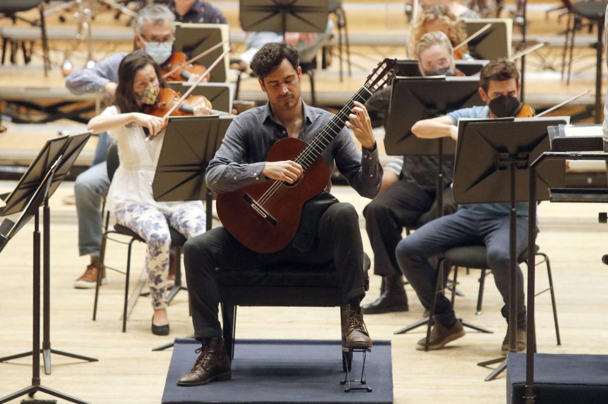
[[(92, 118), (88, 129), (93, 133), (108, 131), (118, 143), (120, 166), (109, 187), (106, 208), (119, 224), (146, 241), (146, 269), (154, 308), (152, 332), (167, 335), (169, 225), (191, 238), (205, 231), (205, 212), (200, 201), (156, 202), (152, 197), (151, 183), (164, 140), (165, 121), (143, 111), (156, 103), (165, 84), (158, 65), (147, 53), (136, 51), (120, 62), (118, 78), (114, 105)], [(193, 106), (196, 115), (209, 114), (204, 104)], [(146, 142), (146, 137), (150, 141)]]

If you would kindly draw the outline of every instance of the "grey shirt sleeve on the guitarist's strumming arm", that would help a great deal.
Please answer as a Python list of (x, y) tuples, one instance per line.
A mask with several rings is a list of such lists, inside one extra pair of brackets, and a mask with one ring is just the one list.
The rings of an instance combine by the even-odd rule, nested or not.
[(241, 163), (247, 149), (247, 132), (234, 120), (224, 140), (207, 166), (207, 187), (218, 193), (236, 191), (252, 183), (266, 180), (262, 175), (265, 162)]

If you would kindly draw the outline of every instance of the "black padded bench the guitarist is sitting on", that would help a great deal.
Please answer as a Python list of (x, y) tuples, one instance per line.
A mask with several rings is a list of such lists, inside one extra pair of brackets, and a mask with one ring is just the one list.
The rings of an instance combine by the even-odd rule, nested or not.
[[(365, 255), (365, 290), (370, 259)], [(333, 261), (325, 264), (277, 264), (252, 270), (217, 269), (226, 351), (234, 357), (237, 306), (340, 307), (342, 289)], [(341, 333), (341, 330), (340, 330)], [(337, 334), (341, 335), (341, 334)], [(343, 362), (343, 365), (345, 363)]]

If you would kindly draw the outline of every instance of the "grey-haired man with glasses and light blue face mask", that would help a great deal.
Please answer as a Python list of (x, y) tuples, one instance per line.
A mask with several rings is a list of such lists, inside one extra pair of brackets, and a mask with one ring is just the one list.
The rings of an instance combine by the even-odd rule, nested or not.
[[(171, 56), (175, 17), (162, 4), (143, 7), (137, 13), (135, 22), (135, 42), (140, 49), (148, 53), (156, 63), (163, 63)], [(120, 52), (99, 61), (90, 69), (74, 72), (66, 77), (66, 87), (74, 94), (105, 92), (111, 97), (116, 94), (118, 86), (119, 64), (128, 53)], [(197, 77), (193, 75), (190, 80)], [(102, 241), (102, 218), (99, 214), (102, 197), (108, 192), (109, 179), (106, 172), (105, 155), (110, 139), (100, 134), (98, 152), (102, 157), (95, 159), (94, 164), (81, 173), (75, 182), (76, 211), (78, 214), (78, 250), (80, 255), (91, 256), (91, 264), (85, 273), (74, 281), (74, 287), (87, 289), (95, 287), (99, 262), (99, 249)], [(101, 153), (99, 153), (99, 149)], [(170, 284), (174, 282), (174, 257), (171, 255)], [(106, 282), (105, 273), (102, 282)]]

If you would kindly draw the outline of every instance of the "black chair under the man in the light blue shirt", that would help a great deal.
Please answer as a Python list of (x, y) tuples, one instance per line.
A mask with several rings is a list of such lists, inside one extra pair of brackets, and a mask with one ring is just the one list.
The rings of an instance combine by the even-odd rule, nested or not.
[[(458, 276), (458, 267), (465, 267), (469, 269), (481, 269), (485, 272), (486, 269), (489, 268), (488, 265), (488, 251), (486, 250), (485, 245), (463, 245), (460, 247), (453, 247), (445, 250), (443, 252), (443, 257), (439, 260), (437, 264), (437, 278), (436, 278), (436, 292), (431, 307), (434, 308), (437, 303), (437, 295), (439, 293), (443, 293), (444, 288), (440, 287), (443, 283), (441, 283), (441, 279), (444, 276), (447, 276), (446, 269), (451, 266), (455, 266), (454, 270), (454, 278), (452, 279), (453, 284), (456, 284), (457, 276)], [(559, 325), (558, 325), (558, 311), (555, 305), (555, 295), (553, 292), (553, 278), (551, 278), (551, 265), (549, 262), (549, 258), (545, 253), (539, 252), (539, 247), (536, 246), (536, 251), (534, 252), (534, 256), (542, 256), (547, 265), (547, 275), (549, 279), (549, 287), (548, 289), (543, 290), (542, 292), (536, 293), (536, 296), (541, 293), (547, 292), (547, 290), (551, 293), (551, 304), (553, 306), (553, 321), (555, 323), (555, 335), (558, 342), (558, 345), (561, 345), (561, 339), (559, 338)], [(528, 261), (528, 251), (522, 252), (517, 258), (517, 263), (521, 264), (522, 262)], [(480, 296), (483, 290), (483, 283), (480, 282)], [(452, 304), (454, 304), (455, 295), (452, 291)], [(478, 302), (479, 304), (479, 302)], [(430, 327), (433, 324), (433, 318), (435, 316), (434, 310), (429, 310), (429, 326), (427, 327), (427, 341), (429, 341), (430, 337)], [(424, 351), (428, 351), (428, 344), (424, 347)]]

